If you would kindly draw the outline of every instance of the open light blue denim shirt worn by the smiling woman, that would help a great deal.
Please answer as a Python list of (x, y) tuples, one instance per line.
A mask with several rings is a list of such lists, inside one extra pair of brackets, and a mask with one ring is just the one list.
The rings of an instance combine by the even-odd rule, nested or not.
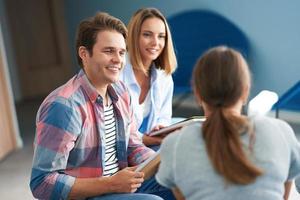
[[(134, 105), (134, 114), (137, 120), (137, 127), (140, 129), (142, 124), (146, 127), (144, 133), (150, 132), (156, 125), (168, 126), (171, 124), (172, 117), (172, 98), (174, 83), (171, 75), (167, 75), (163, 70), (157, 69), (154, 64), (151, 66), (151, 81), (150, 81), (150, 113), (147, 117), (148, 121), (143, 123), (143, 112), (139, 108), (139, 96), (141, 88), (135, 78), (133, 68), (127, 64), (121, 75), (120, 80), (125, 83), (129, 89)], [(143, 134), (144, 134), (143, 133)]]

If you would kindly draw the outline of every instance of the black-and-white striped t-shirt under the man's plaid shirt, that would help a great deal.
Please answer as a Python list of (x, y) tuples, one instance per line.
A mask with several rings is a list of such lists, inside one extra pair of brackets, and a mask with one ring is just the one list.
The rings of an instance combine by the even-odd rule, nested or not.
[(111, 176), (119, 171), (116, 151), (116, 120), (113, 104), (104, 106), (105, 124), (105, 166), (103, 176)]

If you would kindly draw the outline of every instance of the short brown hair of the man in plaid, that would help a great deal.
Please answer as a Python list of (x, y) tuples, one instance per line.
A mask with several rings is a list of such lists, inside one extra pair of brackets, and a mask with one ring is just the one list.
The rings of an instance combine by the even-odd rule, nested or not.
[(97, 42), (97, 35), (101, 31), (117, 31), (127, 38), (127, 28), (118, 18), (113, 17), (105, 12), (98, 12), (95, 16), (80, 22), (76, 34), (76, 55), (78, 64), (83, 67), (82, 60), (78, 54), (80, 46), (84, 46), (90, 56), (93, 55), (93, 47)]

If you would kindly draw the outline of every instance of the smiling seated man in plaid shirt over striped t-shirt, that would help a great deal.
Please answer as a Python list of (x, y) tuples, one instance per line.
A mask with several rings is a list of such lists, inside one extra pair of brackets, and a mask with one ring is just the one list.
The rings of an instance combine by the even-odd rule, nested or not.
[(131, 194), (144, 174), (128, 166), (154, 152), (137, 136), (129, 93), (118, 81), (126, 36), (125, 25), (107, 13), (80, 23), (76, 48), (82, 69), (53, 91), (37, 114), (34, 197), (160, 199)]

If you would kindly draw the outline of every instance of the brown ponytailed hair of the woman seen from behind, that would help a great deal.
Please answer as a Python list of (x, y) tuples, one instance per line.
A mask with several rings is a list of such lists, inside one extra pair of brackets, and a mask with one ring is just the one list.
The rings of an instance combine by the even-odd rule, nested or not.
[(250, 79), (242, 55), (224, 46), (206, 52), (193, 73), (195, 93), (210, 111), (202, 128), (208, 156), (214, 169), (235, 184), (251, 183), (263, 173), (240, 140), (242, 133), (251, 132), (248, 119), (226, 111), (248, 95)]

